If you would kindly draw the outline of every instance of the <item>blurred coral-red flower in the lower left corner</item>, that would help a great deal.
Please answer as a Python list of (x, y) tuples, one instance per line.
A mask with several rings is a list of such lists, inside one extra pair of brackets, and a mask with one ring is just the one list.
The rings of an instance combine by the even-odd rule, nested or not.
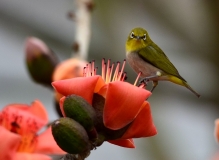
[(1, 160), (51, 160), (45, 154), (65, 154), (56, 144), (51, 127), (38, 131), (48, 123), (42, 103), (7, 105), (0, 112)]

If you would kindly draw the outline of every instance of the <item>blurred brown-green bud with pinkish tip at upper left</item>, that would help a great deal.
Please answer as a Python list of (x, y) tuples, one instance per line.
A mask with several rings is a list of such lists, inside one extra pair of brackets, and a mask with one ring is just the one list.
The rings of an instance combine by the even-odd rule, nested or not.
[(40, 39), (30, 37), (25, 44), (26, 65), (31, 78), (51, 87), (52, 74), (58, 64), (54, 53)]

